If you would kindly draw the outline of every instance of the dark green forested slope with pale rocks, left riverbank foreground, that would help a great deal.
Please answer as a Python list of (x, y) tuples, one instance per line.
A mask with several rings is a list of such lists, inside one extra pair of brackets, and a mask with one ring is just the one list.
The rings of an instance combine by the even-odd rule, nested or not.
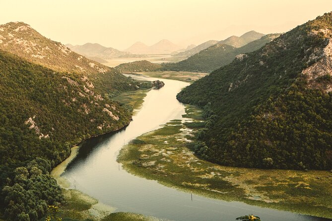
[[(71, 146), (130, 122), (131, 107), (109, 95), (140, 83), (117, 75), (91, 74), (92, 83), (0, 51), (0, 212), (5, 219), (36, 220), (46, 205), (61, 203), (51, 168), (68, 157)], [(97, 84), (102, 77), (112, 84)]]

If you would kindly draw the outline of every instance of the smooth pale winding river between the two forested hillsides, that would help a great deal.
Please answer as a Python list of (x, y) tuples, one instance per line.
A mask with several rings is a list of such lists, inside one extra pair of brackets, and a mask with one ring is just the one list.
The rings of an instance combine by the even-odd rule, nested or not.
[[(152, 78), (147, 78), (152, 80)], [(122, 146), (133, 138), (157, 129), (172, 119), (183, 119), (184, 106), (175, 95), (188, 83), (163, 80), (165, 87), (151, 90), (130, 125), (123, 130), (95, 137), (82, 144), (64, 176), (76, 189), (117, 211), (134, 212), (175, 221), (234, 221), (248, 214), (263, 221), (325, 221), (328, 219), (226, 202), (165, 187), (156, 181), (134, 176), (116, 162)]]

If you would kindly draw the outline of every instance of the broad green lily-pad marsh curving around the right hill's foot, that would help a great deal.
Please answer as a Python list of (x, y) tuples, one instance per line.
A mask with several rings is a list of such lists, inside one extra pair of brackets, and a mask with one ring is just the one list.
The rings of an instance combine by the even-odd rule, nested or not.
[[(124, 147), (118, 161), (129, 172), (212, 198), (332, 218), (332, 173), (219, 166), (193, 154), (200, 112), (193, 122), (172, 120)], [(194, 142), (191, 142), (194, 141)]]

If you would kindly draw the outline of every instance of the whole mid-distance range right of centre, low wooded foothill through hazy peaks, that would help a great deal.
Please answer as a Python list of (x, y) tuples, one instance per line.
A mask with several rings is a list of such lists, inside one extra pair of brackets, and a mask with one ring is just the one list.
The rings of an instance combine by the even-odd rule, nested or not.
[[(263, 37), (261, 37), (260, 39), (252, 41), (253, 39), (262, 35), (263, 34), (251, 31), (242, 35), (241, 37), (236, 37), (236, 38), (229, 37), (223, 41), (214, 41), (214, 40), (207, 41), (191, 50), (177, 54), (177, 55), (191, 55), (191, 54), (194, 55), (176, 63), (162, 63), (157, 65), (148, 61), (132, 62), (132, 63), (127, 63), (126, 65), (119, 65), (118, 66), (119, 68), (116, 67), (116, 69), (118, 68), (121, 72), (124, 73), (135, 72), (135, 70), (142, 70), (142, 69), (211, 72), (219, 67), (229, 64), (236, 57), (244, 56), (244, 54), (246, 53), (250, 53), (260, 49), (266, 43), (269, 43), (273, 39), (277, 38), (280, 34), (263, 35)], [(237, 40), (233, 41), (234, 39)], [(251, 42), (240, 48), (234, 47), (234, 44), (239, 46), (241, 44), (244, 44), (243, 42), (248, 42), (248, 41)], [(229, 44), (232, 43), (233, 46), (225, 44), (224, 42)]]

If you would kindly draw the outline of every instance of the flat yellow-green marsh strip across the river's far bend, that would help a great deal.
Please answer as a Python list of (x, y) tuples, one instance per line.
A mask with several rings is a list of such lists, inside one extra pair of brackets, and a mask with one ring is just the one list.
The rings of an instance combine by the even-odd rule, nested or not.
[(208, 73), (201, 72), (188, 72), (188, 71), (148, 71), (148, 72), (137, 72), (144, 76), (165, 78), (178, 81), (194, 82)]

